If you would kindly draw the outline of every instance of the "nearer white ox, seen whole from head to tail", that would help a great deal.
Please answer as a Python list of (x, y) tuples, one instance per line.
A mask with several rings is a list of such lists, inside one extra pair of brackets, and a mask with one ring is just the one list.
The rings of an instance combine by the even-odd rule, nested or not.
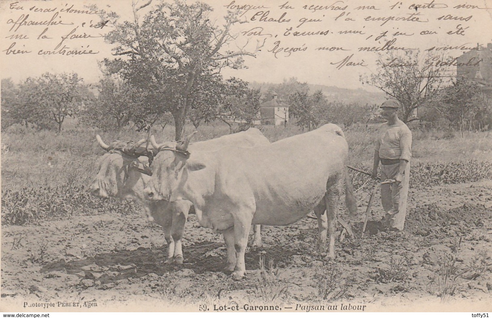
[(246, 272), (251, 224), (287, 225), (314, 209), (318, 251), (325, 251), (328, 229), (327, 257), (335, 257), (336, 214), (344, 179), (347, 207), (352, 214), (356, 212), (345, 168), (348, 145), (334, 124), (249, 149), (186, 153), (185, 147), (154, 147), (159, 153), (144, 192), (154, 200), (193, 202), (200, 225), (224, 234), (227, 269), (234, 271), (235, 279)]

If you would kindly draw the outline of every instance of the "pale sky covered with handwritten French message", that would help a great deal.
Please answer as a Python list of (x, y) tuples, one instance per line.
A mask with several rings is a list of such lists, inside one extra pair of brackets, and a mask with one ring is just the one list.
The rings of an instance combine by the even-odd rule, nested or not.
[[(139, 5), (144, 2), (139, 1)], [(477, 44), (492, 42), (490, 0), (468, 1), (473, 5), (448, 0), (204, 2), (214, 8), (210, 20), (218, 25), (227, 10), (241, 9), (242, 23), (233, 28), (237, 37), (224, 49), (244, 47), (254, 52), (257, 43), (263, 44), (255, 58), (245, 57), (247, 69), (222, 70), (225, 77), (246, 81), (280, 83), (296, 77), (310, 84), (374, 90), (362, 86), (360, 76), (377, 71), (378, 53), (403, 54), (414, 49), (453, 58)], [(113, 47), (103, 39), (113, 26), (94, 28), (98, 17), (84, 5), (97, 3), (99, 9), (114, 10), (122, 20), (133, 19), (131, 0), (0, 3), (0, 74), (15, 82), (44, 72), (72, 71), (86, 82), (97, 82), (98, 62), (114, 58)], [(141, 10), (142, 16), (150, 8)], [(57, 53), (63, 47), (65, 54)], [(97, 54), (67, 54), (73, 50)], [(431, 63), (428, 59), (422, 57), (421, 63)], [(452, 73), (456, 66), (449, 69)]]

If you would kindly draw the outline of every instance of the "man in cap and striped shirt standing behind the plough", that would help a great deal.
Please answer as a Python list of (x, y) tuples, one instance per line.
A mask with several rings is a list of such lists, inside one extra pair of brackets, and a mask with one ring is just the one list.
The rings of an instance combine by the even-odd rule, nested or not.
[(387, 122), (378, 128), (371, 176), (377, 178), (377, 168), (381, 162), (381, 181), (396, 181), (381, 185), (381, 203), (385, 211), (385, 225), (403, 230), (412, 157), (412, 132), (398, 118), (399, 107), (400, 103), (394, 99), (381, 104), (382, 116)]

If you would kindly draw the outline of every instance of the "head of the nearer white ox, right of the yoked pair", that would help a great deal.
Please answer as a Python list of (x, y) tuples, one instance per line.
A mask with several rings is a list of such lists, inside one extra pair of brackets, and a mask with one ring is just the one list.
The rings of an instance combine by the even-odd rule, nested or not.
[(152, 178), (144, 189), (147, 199), (171, 200), (173, 190), (182, 180), (184, 166), (189, 165), (190, 153), (187, 149), (189, 140), (195, 133), (196, 131), (189, 134), (183, 141), (168, 141), (162, 144), (157, 144), (154, 136), (151, 136), (150, 141), (156, 155), (152, 164)]

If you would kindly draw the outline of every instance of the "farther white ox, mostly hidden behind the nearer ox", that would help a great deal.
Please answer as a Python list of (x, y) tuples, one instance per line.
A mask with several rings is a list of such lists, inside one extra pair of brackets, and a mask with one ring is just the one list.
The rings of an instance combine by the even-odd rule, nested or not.
[[(142, 158), (145, 148), (140, 147), (145, 139), (139, 142), (126, 143), (113, 141), (106, 145), (96, 136), (99, 145), (108, 151), (99, 160), (99, 170), (96, 180), (90, 187), (93, 195), (98, 197), (118, 197), (132, 198), (139, 203), (145, 211), (149, 221), (161, 225), (167, 242), (166, 263), (175, 261), (183, 263), (182, 238), (184, 224), (188, 216), (191, 202), (187, 200), (177, 200), (169, 202), (166, 200), (149, 201), (144, 195), (144, 188), (147, 186), (150, 176), (142, 174), (145, 170), (139, 168), (146, 163), (147, 159)], [(176, 142), (169, 142), (176, 147)], [(218, 149), (227, 145), (240, 145), (244, 147), (255, 147), (270, 144), (269, 140), (256, 128), (235, 134), (225, 135), (219, 138), (200, 141), (189, 145), (190, 150)], [(260, 226), (255, 227), (254, 245), (261, 245)]]

